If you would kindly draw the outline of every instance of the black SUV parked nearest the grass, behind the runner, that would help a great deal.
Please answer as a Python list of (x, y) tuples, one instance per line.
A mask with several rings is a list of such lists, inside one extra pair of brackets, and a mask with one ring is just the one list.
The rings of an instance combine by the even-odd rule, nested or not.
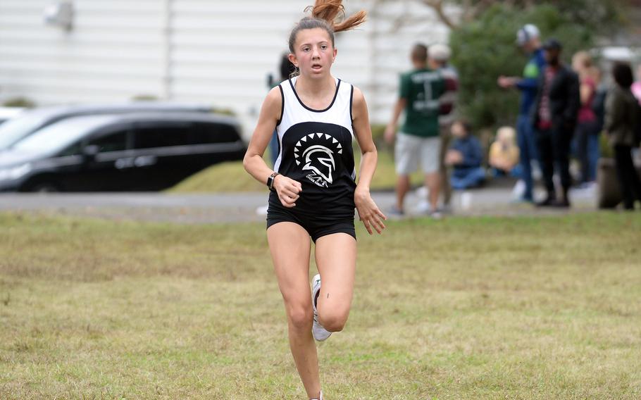
[(166, 189), (247, 147), (238, 122), (208, 113), (66, 118), (0, 152), (0, 191)]

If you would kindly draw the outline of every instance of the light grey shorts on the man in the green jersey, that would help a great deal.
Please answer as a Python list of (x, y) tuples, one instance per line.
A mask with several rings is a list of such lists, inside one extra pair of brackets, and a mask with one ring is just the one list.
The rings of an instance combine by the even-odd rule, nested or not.
[(440, 137), (419, 137), (399, 132), (394, 149), (394, 161), (398, 175), (409, 175), (421, 163), (423, 173), (430, 174), (439, 170)]

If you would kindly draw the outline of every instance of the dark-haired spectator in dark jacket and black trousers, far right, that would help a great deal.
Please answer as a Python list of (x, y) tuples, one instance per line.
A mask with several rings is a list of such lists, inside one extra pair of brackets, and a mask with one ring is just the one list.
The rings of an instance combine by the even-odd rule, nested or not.
[(637, 99), (630, 91), (632, 68), (616, 63), (612, 68), (615, 85), (606, 98), (605, 132), (614, 148), (616, 175), (623, 193), (623, 207), (634, 210), (635, 200), (641, 201), (641, 182), (632, 160), (632, 148), (638, 146), (635, 129), (641, 123)]

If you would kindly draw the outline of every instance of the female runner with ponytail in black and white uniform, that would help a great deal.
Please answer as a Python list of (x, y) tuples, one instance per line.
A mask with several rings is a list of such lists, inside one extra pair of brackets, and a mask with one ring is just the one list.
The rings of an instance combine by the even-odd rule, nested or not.
[[(309, 399), (323, 399), (313, 339), (343, 329), (354, 289), (354, 207), (370, 235), (385, 229), (385, 215), (370, 196), (377, 153), (365, 98), (332, 76), (334, 32), (364, 22), (361, 11), (344, 17), (341, 0), (316, 0), (311, 17), (290, 35), (290, 61), (299, 75), (267, 95), (244, 157), (244, 168), (271, 190), (267, 238), (278, 286), (285, 301), (290, 348)], [(274, 170), (263, 152), (274, 128), (280, 151)], [(352, 140), (361, 148), (355, 182)], [(319, 275), (309, 287), (310, 237)], [(321, 287), (321, 277), (323, 285)]]

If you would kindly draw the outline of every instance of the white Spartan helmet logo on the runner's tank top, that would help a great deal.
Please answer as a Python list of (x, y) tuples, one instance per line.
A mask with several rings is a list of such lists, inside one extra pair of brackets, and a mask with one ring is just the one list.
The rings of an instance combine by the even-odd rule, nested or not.
[[(330, 149), (332, 147), (334, 150)], [(301, 148), (304, 148), (301, 154)], [(303, 170), (311, 171), (307, 179), (321, 187), (334, 182), (336, 170), (334, 154), (342, 154), (342, 146), (332, 136), (325, 133), (310, 133), (302, 137), (294, 148), (296, 165), (303, 163)]]

